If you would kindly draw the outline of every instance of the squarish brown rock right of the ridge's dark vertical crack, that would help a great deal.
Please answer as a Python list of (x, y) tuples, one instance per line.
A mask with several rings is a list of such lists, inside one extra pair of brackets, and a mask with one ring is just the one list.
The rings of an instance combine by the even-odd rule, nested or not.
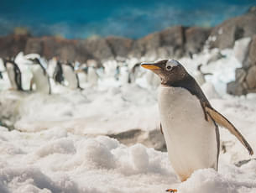
[(211, 29), (191, 27), (185, 30), (185, 51), (187, 54), (201, 52), (203, 45), (208, 39)]

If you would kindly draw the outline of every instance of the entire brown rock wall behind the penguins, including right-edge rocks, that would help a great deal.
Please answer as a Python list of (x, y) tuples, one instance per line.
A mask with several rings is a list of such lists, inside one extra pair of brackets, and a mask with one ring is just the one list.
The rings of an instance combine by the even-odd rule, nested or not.
[[(243, 67), (236, 70), (236, 80), (227, 85), (233, 95), (256, 91), (256, 7), (236, 18), (230, 18), (212, 29), (173, 26), (141, 39), (122, 37), (91, 37), (89, 39), (63, 39), (60, 37), (33, 37), (29, 34), (10, 34), (0, 37), (0, 57), (38, 53), (46, 59), (58, 56), (60, 60), (98, 61), (118, 57), (180, 58), (201, 52), (203, 46), (232, 48), (238, 39), (250, 37), (243, 53)], [(239, 45), (237, 46), (238, 50)]]

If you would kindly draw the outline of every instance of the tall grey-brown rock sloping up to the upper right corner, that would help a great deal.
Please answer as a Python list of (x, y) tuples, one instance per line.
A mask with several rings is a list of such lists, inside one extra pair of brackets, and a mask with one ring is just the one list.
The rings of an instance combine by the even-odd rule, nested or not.
[(248, 13), (225, 22), (212, 29), (210, 48), (232, 48), (234, 42), (244, 37), (256, 34), (256, 8), (250, 8)]

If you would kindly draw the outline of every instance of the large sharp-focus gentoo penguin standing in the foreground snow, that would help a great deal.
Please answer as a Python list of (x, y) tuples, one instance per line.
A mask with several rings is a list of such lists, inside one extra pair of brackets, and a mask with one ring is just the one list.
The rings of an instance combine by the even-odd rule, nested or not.
[[(198, 169), (217, 170), (220, 139), (218, 126), (227, 128), (253, 154), (253, 149), (226, 117), (208, 102), (195, 79), (176, 60), (142, 63), (160, 77), (160, 127), (170, 163), (181, 181)], [(176, 191), (176, 190), (169, 190)]]

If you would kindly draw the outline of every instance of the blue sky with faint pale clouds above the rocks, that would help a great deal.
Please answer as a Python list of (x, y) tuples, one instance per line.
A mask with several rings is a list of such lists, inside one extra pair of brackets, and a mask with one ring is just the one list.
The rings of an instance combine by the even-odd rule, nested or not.
[(139, 38), (175, 24), (214, 26), (255, 0), (1, 0), (0, 35), (20, 26), (36, 35)]

